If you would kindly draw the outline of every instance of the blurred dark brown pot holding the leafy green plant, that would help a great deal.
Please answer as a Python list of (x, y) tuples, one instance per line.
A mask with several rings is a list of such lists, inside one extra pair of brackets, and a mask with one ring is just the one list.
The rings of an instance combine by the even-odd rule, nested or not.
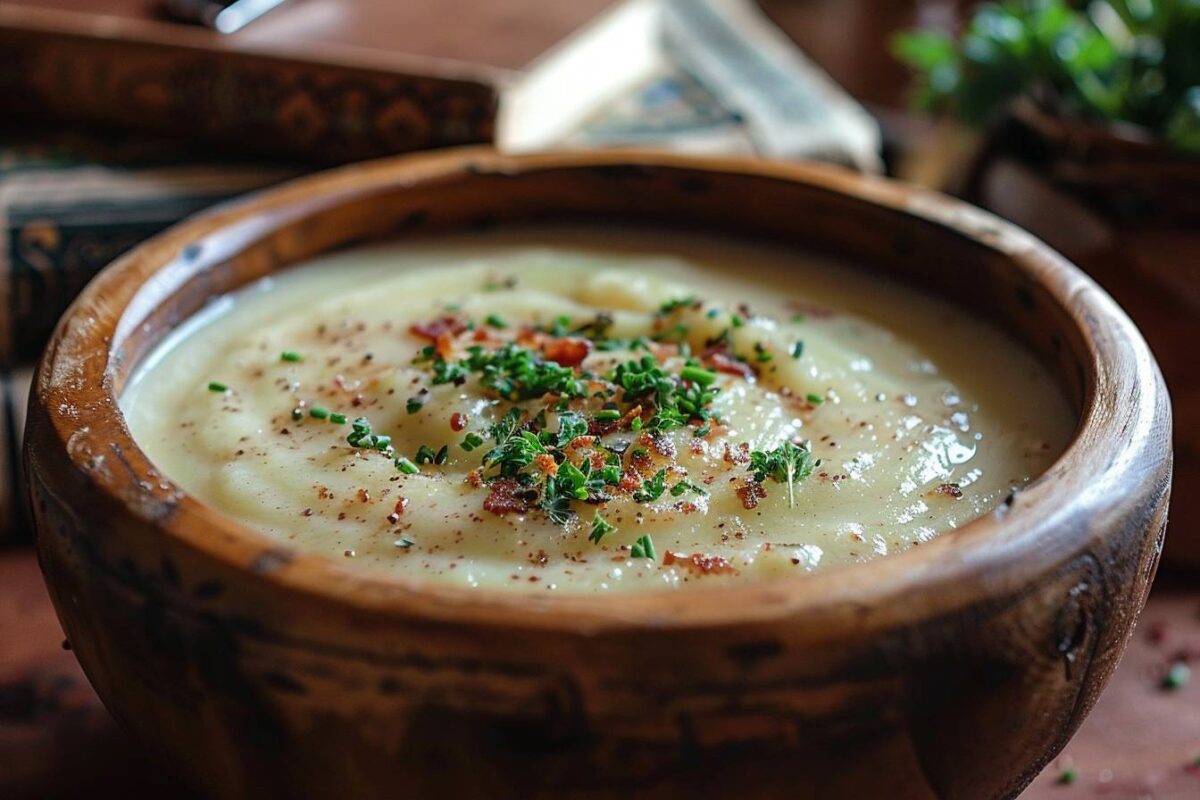
[(1022, 103), (964, 194), (1027, 228), (1108, 289), (1141, 329), (1175, 404), (1166, 564), (1200, 569), (1200, 158), (1135, 128), (1067, 124)]

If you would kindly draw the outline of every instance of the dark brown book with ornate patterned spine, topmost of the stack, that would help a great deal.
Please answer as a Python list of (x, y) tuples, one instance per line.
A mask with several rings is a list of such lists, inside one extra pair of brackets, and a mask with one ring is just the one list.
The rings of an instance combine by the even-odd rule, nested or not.
[(439, 76), (436, 60), (406, 66), (414, 72), (247, 53), (184, 32), (89, 35), (0, 6), (0, 118), (320, 163), (492, 140), (498, 95), (486, 74)]

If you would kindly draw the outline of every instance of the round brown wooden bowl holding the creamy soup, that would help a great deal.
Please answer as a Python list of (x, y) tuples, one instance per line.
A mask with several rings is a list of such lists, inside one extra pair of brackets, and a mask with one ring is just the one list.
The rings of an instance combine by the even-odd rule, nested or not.
[[(214, 295), (335, 247), (511, 222), (727, 231), (986, 315), (1079, 410), (1044, 475), (907, 553), (694, 593), (361, 575), (158, 474), (115, 397)], [(1158, 563), (1170, 409), (1136, 329), (1027, 234), (832, 168), (487, 150), (305, 179), (179, 225), (62, 319), (25, 458), (42, 567), (106, 704), (222, 798), (1012, 796), (1063, 746)]]

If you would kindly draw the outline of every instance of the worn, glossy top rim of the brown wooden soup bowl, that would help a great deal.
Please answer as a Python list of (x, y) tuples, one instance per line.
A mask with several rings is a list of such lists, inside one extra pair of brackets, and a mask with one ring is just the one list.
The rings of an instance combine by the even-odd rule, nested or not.
[[(152, 275), (156, 282), (170, 281), (170, 264), (178, 263), (188, 246), (196, 242), (206, 246), (214, 241), (214, 234), (220, 233), (223, 241), (244, 247), (284, 219), (362, 198), (382, 188), (403, 186), (419, 191), (425, 184), (469, 181), (474, 174), (604, 166), (704, 169), (802, 181), (931, 222), (944, 229), (947, 236), (980, 242), (1002, 252), (1013, 269), (1042, 283), (1045, 278), (1038, 276), (1054, 276), (1056, 279), (1050, 287), (1054, 299), (1069, 309), (1091, 354), (1091, 363), (1085, 365), (1091, 385), (1076, 435), (1058, 461), (1025, 487), (1014, 503), (906, 553), (812, 575), (694, 591), (592, 596), (473, 590), (372, 573), (346, 566), (334, 558), (304, 552), (295, 553), (269, 575), (260, 575), (251, 570), (250, 564), (263, 553), (277, 551), (278, 540), (250, 529), (186, 493), (179, 492), (175, 511), (155, 523), (144, 495), (148, 488), (139, 488), (137, 483), (138, 480), (157, 483), (161, 476), (91, 470), (89, 475), (95, 488), (145, 523), (156, 524), (163, 536), (244, 572), (250, 581), (270, 582), (275, 589), (317, 595), (347, 608), (398, 618), (588, 633), (764, 622), (803, 613), (848, 613), (858, 615), (863, 626), (882, 624), (884, 618), (902, 620), (910, 614), (928, 618), (938, 609), (977, 602), (980, 589), (985, 594), (1010, 591), (1027, 583), (1031, 576), (1055, 569), (1066, 553), (1079, 546), (1080, 537), (1094, 534), (1073, 531), (1067, 522), (1080, 513), (1103, 515), (1114, 503), (1112, 487), (1138, 469), (1129, 458), (1122, 457), (1122, 452), (1112, 450), (1111, 441), (1116, 440), (1112, 434), (1118, 426), (1135, 425), (1148, 431), (1160, 422), (1156, 419), (1160, 398), (1153, 390), (1157, 385), (1154, 361), (1136, 329), (1111, 299), (1045, 245), (986, 212), (944, 196), (840, 168), (653, 151), (521, 157), (498, 155), (484, 148), (442, 151), (349, 166), (222, 205), (139, 246), (94, 281), (60, 321), (41, 363), (35, 392), (43, 401), (52, 387), (58, 392), (54, 403), (44, 402), (49, 405), (47, 410), (55, 437), (72, 453), (76, 469), (84, 469), (78, 453), (88, 451), (78, 446), (79, 438), (90, 435), (92, 422), (112, 420), (113, 415), (120, 419), (118, 441), (95, 441), (91, 452), (108, 452), (115, 444), (126, 455), (137, 453), (149, 463), (118, 409), (112, 360), (128, 329), (144, 318), (146, 308), (140, 307), (144, 278)], [(275, 222), (265, 228), (246, 225), (247, 221), (263, 218)], [(228, 252), (228, 245), (226, 249)], [(163, 260), (163, 253), (174, 253), (174, 261)], [(94, 308), (101, 296), (110, 313), (97, 317)], [(1098, 331), (1104, 332), (1104, 342), (1099, 341)], [(1134, 368), (1115, 366), (1122, 362)], [(102, 369), (103, 385), (77, 381), (66, 386), (71, 381), (64, 375), (80, 363), (95, 374)], [(1138, 391), (1139, 386), (1142, 391)], [(1100, 411), (1097, 398), (1105, 393), (1129, 398), (1122, 416)], [(67, 413), (61, 404), (64, 398), (74, 404), (74, 414)], [(1070, 469), (1064, 468), (1068, 462), (1073, 464)], [(973, 590), (966, 590), (967, 587)], [(917, 595), (923, 596), (920, 602), (907, 602), (916, 601)]]

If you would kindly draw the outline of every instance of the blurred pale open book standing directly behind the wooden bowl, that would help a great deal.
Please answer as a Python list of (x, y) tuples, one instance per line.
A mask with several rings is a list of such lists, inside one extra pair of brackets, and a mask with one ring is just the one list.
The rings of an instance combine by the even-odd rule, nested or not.
[(628, 0), (533, 65), (497, 145), (652, 146), (880, 172), (876, 121), (750, 0)]

